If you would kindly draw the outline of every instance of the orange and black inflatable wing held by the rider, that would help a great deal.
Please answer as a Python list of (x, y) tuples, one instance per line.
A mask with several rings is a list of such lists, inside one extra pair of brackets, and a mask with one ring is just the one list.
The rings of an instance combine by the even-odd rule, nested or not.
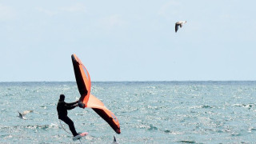
[(108, 110), (98, 98), (90, 94), (90, 74), (88, 70), (86, 70), (86, 67), (75, 54), (72, 54), (71, 58), (78, 90), (81, 94), (81, 98), (78, 103), (79, 107), (92, 108), (113, 128), (117, 134), (121, 134), (118, 118), (116, 118), (116, 116)]

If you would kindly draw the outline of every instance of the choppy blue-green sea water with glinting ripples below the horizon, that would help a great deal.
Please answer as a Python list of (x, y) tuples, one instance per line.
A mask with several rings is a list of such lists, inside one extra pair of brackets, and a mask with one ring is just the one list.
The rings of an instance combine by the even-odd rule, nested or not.
[[(255, 143), (256, 82), (92, 82), (91, 93), (117, 117), (121, 134), (91, 109), (69, 110), (82, 143)], [(59, 94), (75, 82), (0, 82), (0, 143), (80, 143), (62, 129)], [(27, 120), (17, 111), (34, 110)], [(64, 125), (69, 132), (69, 128)]]

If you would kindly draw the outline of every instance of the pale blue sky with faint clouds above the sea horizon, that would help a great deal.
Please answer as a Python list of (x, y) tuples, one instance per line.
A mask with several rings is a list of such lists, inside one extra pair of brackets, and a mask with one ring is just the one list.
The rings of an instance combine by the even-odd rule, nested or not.
[[(0, 0), (0, 82), (256, 80), (254, 0)], [(177, 33), (175, 22), (187, 21)]]

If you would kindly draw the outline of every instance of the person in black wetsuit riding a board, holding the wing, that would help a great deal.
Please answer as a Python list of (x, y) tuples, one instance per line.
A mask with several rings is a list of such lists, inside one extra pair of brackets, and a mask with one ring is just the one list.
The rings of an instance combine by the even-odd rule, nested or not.
[(77, 102), (72, 103), (66, 103), (64, 102), (65, 95), (61, 94), (59, 96), (58, 105), (57, 105), (57, 111), (58, 111), (58, 119), (61, 119), (63, 122), (65, 122), (70, 127), (70, 131), (72, 132), (73, 136), (75, 137), (78, 135), (77, 131), (74, 128), (74, 122), (67, 116), (67, 110), (72, 110), (76, 106), (78, 106)]

